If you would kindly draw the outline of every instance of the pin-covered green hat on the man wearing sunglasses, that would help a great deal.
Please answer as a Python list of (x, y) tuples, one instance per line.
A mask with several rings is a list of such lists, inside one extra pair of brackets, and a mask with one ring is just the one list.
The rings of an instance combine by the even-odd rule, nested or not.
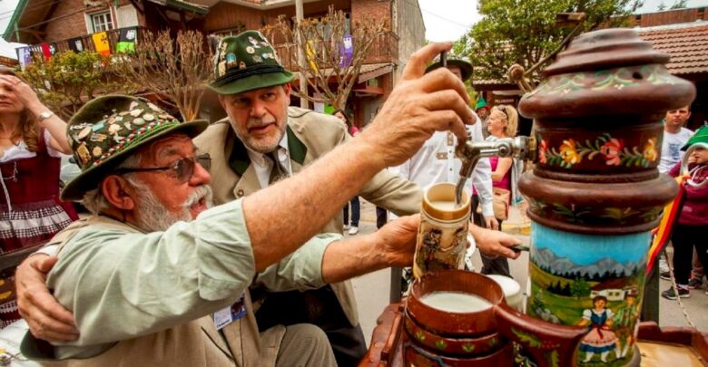
[(182, 132), (193, 138), (205, 120), (177, 121), (143, 98), (105, 95), (89, 101), (66, 124), (66, 135), (81, 174), (62, 190), (62, 199), (80, 200), (103, 177), (146, 142)]

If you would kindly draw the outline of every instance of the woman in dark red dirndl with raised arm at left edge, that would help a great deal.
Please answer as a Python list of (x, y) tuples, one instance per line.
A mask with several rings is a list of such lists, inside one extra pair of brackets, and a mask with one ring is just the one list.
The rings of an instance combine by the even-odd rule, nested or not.
[[(41, 245), (77, 219), (59, 199), (66, 123), (13, 72), (0, 69), (0, 258)], [(15, 269), (0, 274), (0, 328), (20, 318)]]

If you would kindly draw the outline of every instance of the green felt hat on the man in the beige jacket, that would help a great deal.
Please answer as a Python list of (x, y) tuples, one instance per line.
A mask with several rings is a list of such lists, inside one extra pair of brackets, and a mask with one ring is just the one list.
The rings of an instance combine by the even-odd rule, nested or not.
[(209, 88), (219, 94), (237, 94), (285, 84), (293, 78), (263, 34), (246, 31), (219, 43)]

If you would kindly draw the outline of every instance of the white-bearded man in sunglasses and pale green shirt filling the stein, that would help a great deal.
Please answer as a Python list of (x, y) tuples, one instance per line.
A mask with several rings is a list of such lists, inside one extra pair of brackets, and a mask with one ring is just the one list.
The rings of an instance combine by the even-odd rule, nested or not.
[[(450, 47), (434, 43), (414, 54), (358, 138), (290, 179), (214, 208), (202, 168), (208, 161), (190, 140), (204, 121), (179, 123), (126, 96), (87, 103), (67, 128), (82, 174), (63, 197), (84, 198), (93, 216), (53, 238), (60, 249), (47, 279), (74, 314), (78, 339), (47, 351), (28, 334), (25, 355), (96, 366), (334, 364), (319, 328), (277, 325), (259, 333), (248, 287), (320, 287), (412, 262), (418, 217), (349, 240), (311, 237), (433, 131), (465, 137), (463, 122), (472, 115), (464, 85), (449, 72), (423, 75), (425, 63)], [(53, 321), (28, 322), (42, 333)]]

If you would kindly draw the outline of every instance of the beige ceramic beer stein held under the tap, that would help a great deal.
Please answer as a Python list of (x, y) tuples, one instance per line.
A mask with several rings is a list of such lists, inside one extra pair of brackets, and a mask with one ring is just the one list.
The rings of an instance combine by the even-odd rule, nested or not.
[(469, 205), (469, 195), (463, 193), (461, 205), (456, 206), (454, 184), (438, 183), (426, 190), (420, 210), (413, 276), (465, 266)]

